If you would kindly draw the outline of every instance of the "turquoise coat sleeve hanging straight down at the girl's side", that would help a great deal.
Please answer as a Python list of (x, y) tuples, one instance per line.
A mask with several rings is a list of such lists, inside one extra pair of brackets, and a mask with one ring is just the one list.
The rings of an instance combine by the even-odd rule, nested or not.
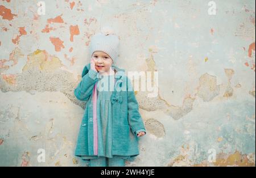
[(141, 114), (139, 113), (139, 105), (138, 101), (135, 97), (133, 87), (131, 86), (131, 81), (129, 78), (127, 79), (127, 101), (128, 101), (128, 122), (131, 127), (131, 131), (137, 135), (139, 132), (145, 132), (146, 129), (141, 117)]

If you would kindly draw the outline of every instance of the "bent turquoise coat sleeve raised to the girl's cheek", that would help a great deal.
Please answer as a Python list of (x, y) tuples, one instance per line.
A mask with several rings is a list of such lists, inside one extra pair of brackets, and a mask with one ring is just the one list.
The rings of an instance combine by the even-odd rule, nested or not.
[(81, 82), (74, 90), (77, 99), (86, 101), (92, 95), (94, 84), (97, 81), (97, 71), (90, 69), (87, 74), (82, 77)]

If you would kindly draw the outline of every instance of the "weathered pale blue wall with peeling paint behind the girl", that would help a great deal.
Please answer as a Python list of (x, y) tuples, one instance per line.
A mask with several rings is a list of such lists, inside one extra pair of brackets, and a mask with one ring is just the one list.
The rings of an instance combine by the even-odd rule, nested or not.
[(73, 90), (104, 26), (117, 66), (159, 74), (156, 98), (136, 92), (147, 134), (126, 166), (255, 166), (255, 1), (43, 2), (0, 0), (0, 166), (87, 166)]

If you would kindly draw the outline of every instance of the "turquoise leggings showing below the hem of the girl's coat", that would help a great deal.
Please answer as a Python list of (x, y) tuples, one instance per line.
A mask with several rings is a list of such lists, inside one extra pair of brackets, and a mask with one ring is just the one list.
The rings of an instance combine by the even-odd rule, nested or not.
[(90, 167), (124, 167), (125, 160), (122, 158), (106, 158), (100, 157), (96, 159), (90, 159)]

